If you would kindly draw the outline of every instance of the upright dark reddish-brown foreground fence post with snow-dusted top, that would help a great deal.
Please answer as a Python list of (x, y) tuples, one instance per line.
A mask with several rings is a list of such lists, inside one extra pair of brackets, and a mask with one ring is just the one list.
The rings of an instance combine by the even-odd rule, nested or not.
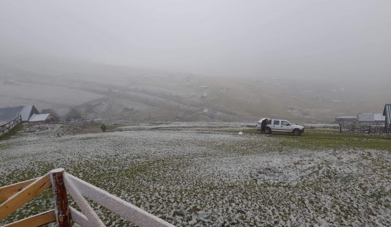
[(64, 185), (64, 169), (50, 171), (51, 185), (54, 191), (54, 206), (56, 208), (56, 220), (59, 227), (70, 227), (69, 206), (67, 189)]

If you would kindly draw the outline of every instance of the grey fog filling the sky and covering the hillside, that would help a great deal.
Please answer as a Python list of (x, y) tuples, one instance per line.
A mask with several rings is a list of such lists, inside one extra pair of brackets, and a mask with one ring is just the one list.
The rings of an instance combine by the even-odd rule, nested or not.
[(0, 107), (333, 121), (391, 102), (390, 1), (1, 1)]

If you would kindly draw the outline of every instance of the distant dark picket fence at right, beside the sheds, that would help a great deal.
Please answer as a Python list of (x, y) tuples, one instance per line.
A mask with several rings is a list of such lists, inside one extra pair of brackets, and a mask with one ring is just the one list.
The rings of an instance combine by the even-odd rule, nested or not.
[(386, 128), (383, 123), (359, 123), (359, 122), (340, 122), (340, 133), (356, 134), (390, 134), (390, 128)]

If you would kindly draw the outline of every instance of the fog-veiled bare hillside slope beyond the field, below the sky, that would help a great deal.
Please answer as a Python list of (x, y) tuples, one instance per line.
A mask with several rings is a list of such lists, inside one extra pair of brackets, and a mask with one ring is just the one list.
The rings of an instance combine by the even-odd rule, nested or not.
[(35, 104), (109, 121), (255, 121), (263, 116), (332, 121), (381, 112), (387, 83), (209, 77), (64, 59), (0, 62), (0, 106)]

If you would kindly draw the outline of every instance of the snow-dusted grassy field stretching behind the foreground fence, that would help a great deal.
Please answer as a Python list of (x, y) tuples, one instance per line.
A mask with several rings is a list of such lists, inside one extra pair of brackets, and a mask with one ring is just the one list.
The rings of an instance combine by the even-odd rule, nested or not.
[[(207, 128), (30, 133), (0, 141), (0, 187), (63, 167), (176, 226), (391, 225), (390, 152), (283, 140)], [(0, 224), (51, 206), (46, 193)], [(130, 225), (94, 207), (106, 225)]]

